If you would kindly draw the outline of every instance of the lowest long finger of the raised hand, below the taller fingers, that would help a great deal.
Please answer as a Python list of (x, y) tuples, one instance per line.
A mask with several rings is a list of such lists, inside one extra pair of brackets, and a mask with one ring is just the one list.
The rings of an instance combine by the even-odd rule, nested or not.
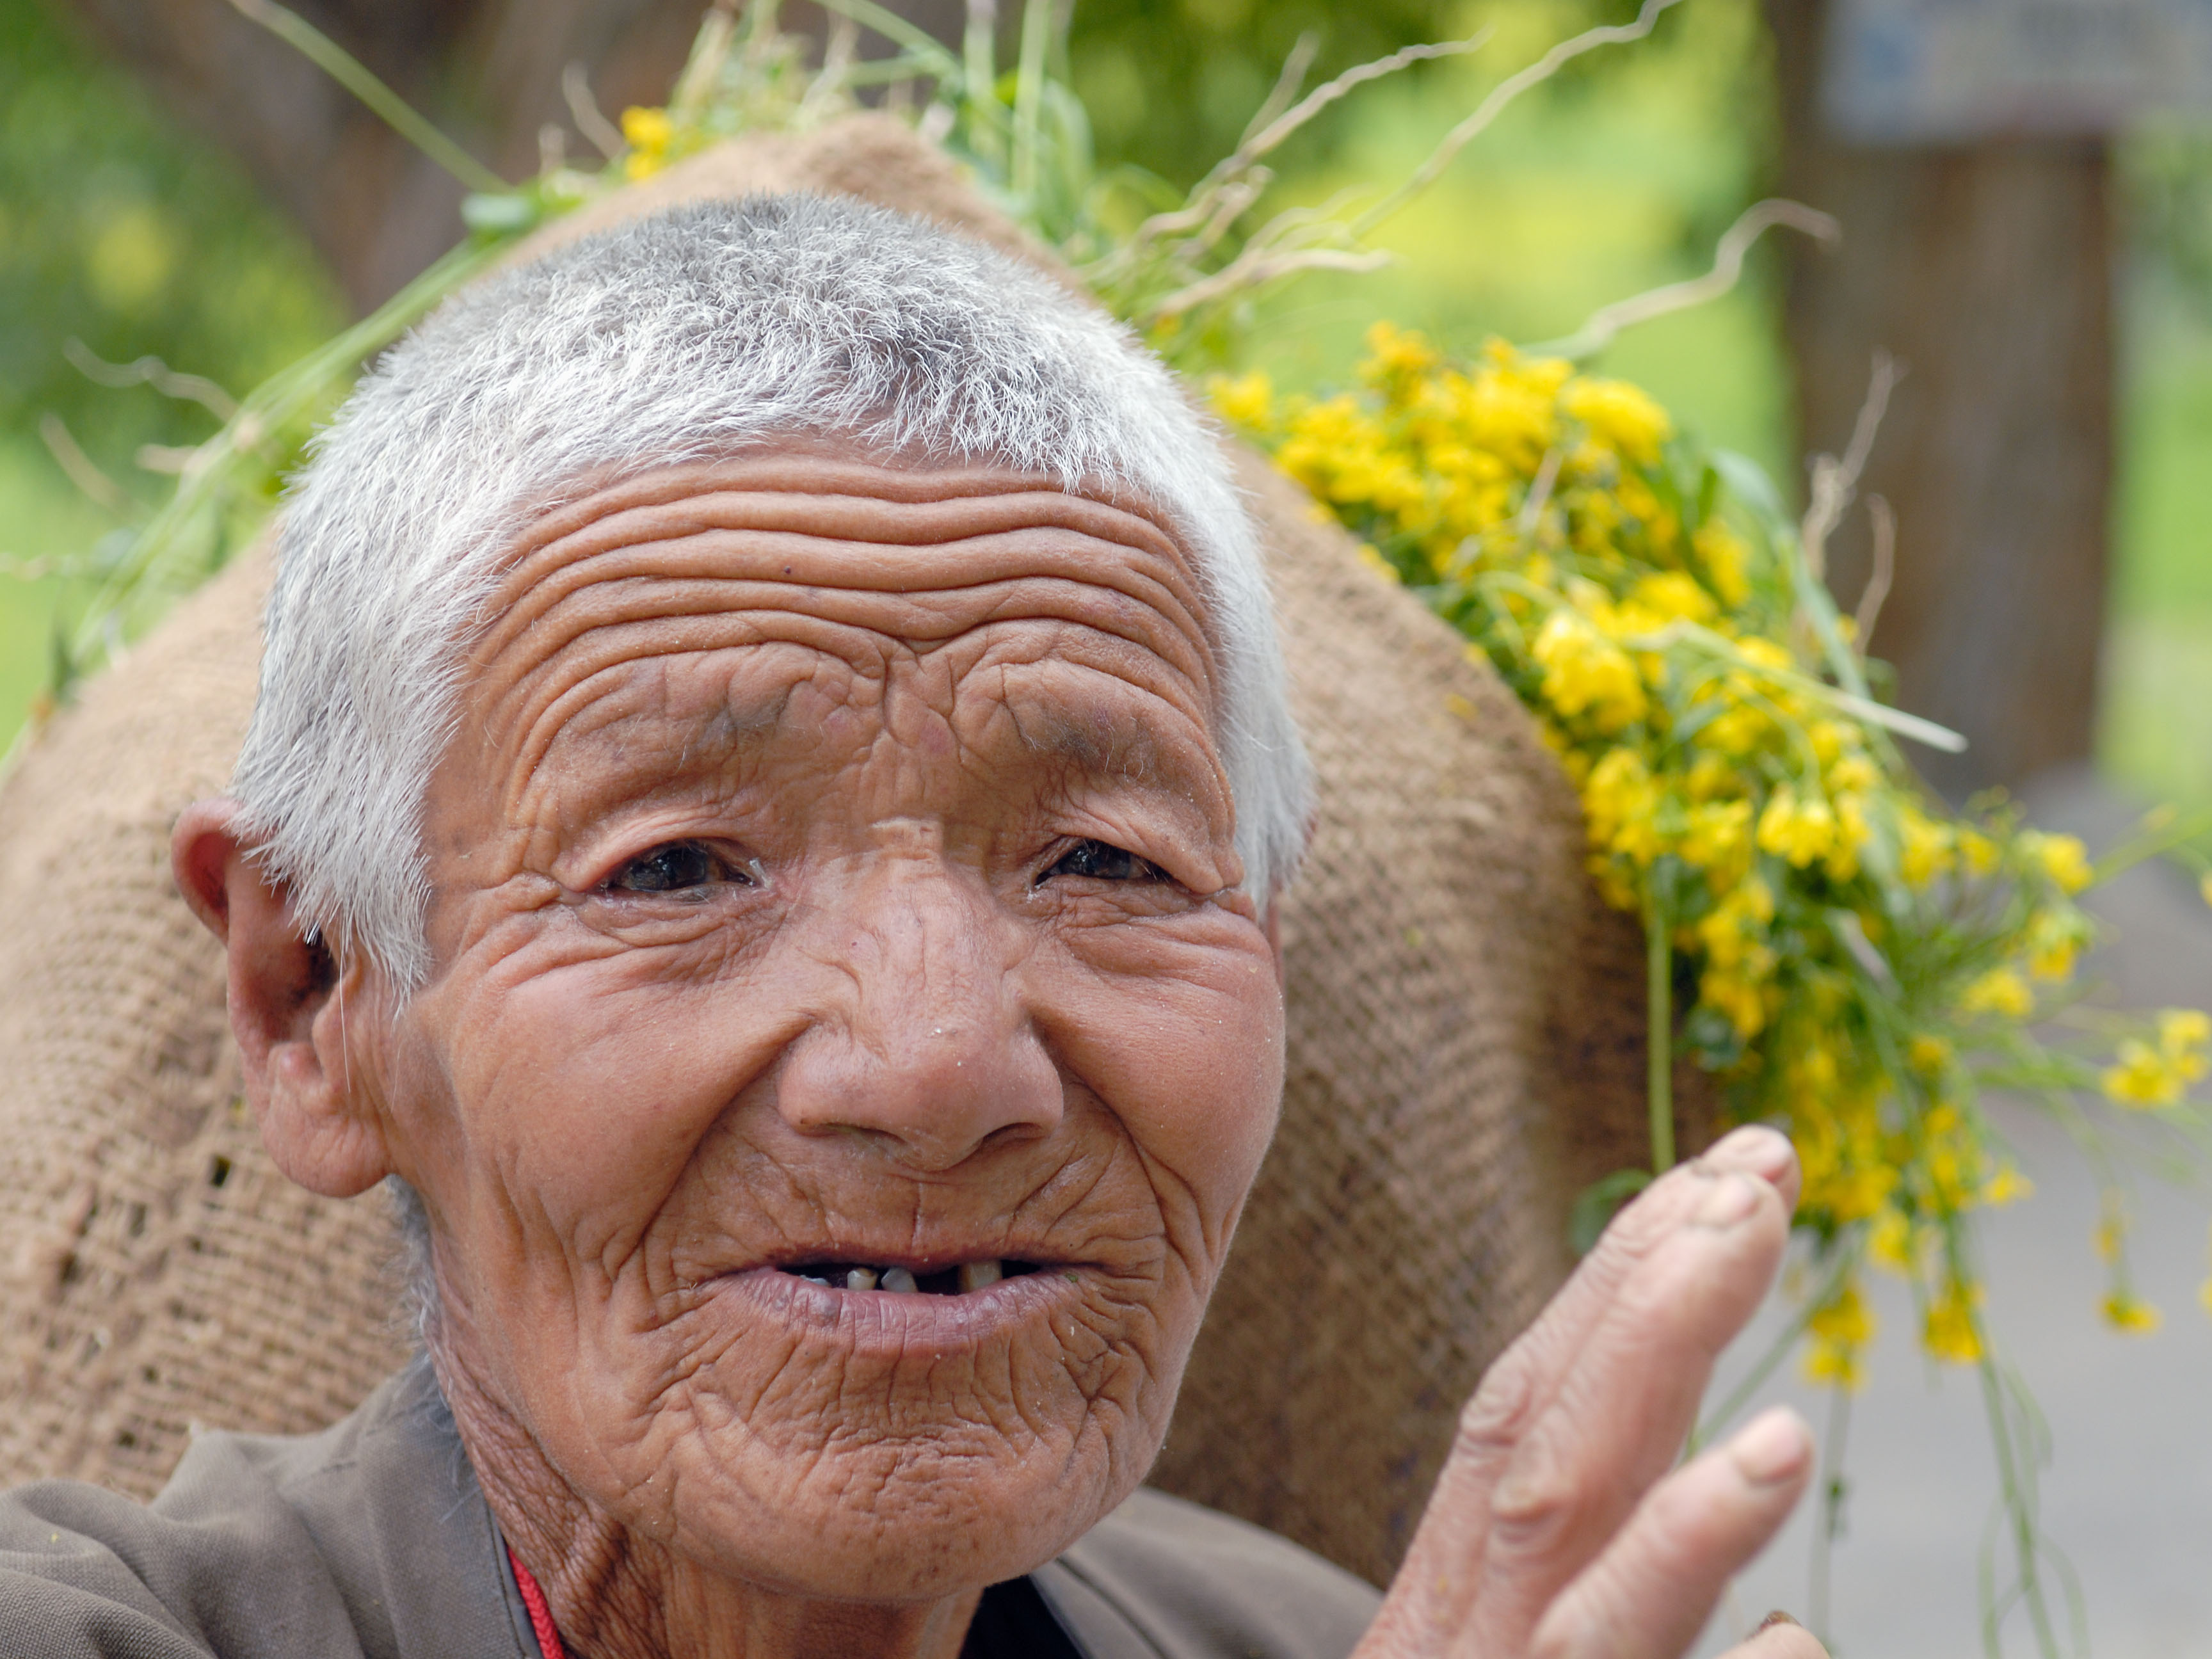
[[(1812, 1431), (1787, 1407), (1652, 1486), (1621, 1535), (1537, 1626), (1537, 1659), (1677, 1659), (1728, 1582), (1790, 1520), (1812, 1478)], [(1792, 1635), (1792, 1632), (1798, 1635)], [(1741, 1655), (1818, 1652), (1798, 1626), (1772, 1626)], [(1765, 1644), (1765, 1646), (1761, 1646)]]

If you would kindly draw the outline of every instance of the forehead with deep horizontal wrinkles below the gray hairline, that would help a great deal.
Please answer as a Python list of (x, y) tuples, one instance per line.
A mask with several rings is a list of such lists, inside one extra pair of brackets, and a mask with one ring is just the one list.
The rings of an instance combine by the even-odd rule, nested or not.
[(883, 644), (960, 659), (1015, 630), (1026, 650), (1179, 679), (1219, 730), (1201, 573), (1157, 507), (827, 442), (584, 480), (513, 540), (469, 666), (498, 692), (776, 641), (867, 672)]

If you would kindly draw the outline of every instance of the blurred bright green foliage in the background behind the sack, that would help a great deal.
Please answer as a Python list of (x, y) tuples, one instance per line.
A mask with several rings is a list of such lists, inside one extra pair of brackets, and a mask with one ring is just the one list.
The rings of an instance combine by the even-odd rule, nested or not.
[[(1188, 184), (1228, 150), (1303, 29), (1321, 73), (1407, 40), (1475, 55), (1363, 88), (1283, 150), (1323, 199), (1405, 175), (1500, 75), (1588, 24), (1599, 0), (1079, 0), (1073, 64), (1102, 161)], [(1256, 361), (1287, 385), (1347, 376), (1376, 314), (1458, 349), (1537, 341), (1597, 305), (1703, 270), (1765, 192), (1770, 49), (1752, 0), (1690, 0), (1659, 33), (1597, 53), (1515, 106), (1378, 241), (1398, 263), (1261, 301)], [(2212, 139), (2124, 150), (2126, 376), (2101, 761), (2137, 792), (2212, 801)], [(1601, 367), (1796, 487), (1778, 263), (1728, 301), (1626, 334)], [(46, 681), (66, 584), (55, 555), (144, 513), (164, 449), (212, 416), (71, 361), (159, 356), (232, 394), (345, 316), (305, 241), (210, 146), (166, 122), (38, 0), (0, 0), (0, 743)]]

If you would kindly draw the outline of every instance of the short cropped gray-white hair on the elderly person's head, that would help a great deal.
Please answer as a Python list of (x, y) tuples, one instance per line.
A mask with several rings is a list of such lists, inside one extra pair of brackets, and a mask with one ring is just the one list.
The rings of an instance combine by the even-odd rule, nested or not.
[(761, 195), (469, 288), (314, 440), (232, 781), (299, 918), (418, 989), (422, 796), (513, 538), (586, 482), (794, 436), (1004, 465), (1166, 513), (1208, 599), (1245, 883), (1270, 900), (1312, 785), (1217, 434), (1128, 330), (1042, 272), (883, 208)]

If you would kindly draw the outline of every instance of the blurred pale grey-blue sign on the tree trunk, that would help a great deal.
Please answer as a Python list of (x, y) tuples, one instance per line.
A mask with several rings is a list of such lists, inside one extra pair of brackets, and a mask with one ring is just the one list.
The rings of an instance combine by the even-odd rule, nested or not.
[(2212, 108), (2212, 0), (1836, 0), (1820, 102), (1860, 144), (2112, 133)]

